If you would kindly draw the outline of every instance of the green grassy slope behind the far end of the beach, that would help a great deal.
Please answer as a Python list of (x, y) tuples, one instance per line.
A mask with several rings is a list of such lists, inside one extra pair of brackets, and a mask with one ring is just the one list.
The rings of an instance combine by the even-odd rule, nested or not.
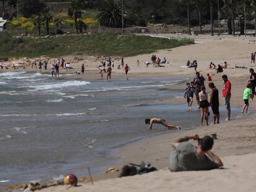
[(11, 38), (0, 33), (0, 58), (64, 56), (135, 56), (158, 49), (175, 48), (194, 43), (191, 39), (168, 40), (135, 35), (72, 35), (49, 38)]

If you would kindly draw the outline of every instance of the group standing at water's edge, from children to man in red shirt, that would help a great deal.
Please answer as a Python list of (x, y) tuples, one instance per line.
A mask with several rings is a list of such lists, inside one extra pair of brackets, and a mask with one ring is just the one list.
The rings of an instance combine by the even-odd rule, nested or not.
[[(231, 107), (231, 82), (228, 80), (227, 75), (222, 76), (224, 86), (223, 86), (223, 99), (226, 106), (228, 117), (226, 120), (230, 120)], [(187, 83), (186, 92), (184, 95), (187, 98), (187, 104), (189, 106), (189, 111), (192, 109), (193, 97), (197, 99), (198, 109), (201, 109), (201, 119), (200, 126), (203, 126), (203, 119), (205, 119), (206, 124), (208, 125), (209, 118), (209, 107), (213, 112), (213, 124), (220, 123), (220, 101), (219, 101), (219, 91), (216, 88), (215, 84), (211, 81), (210, 75), (207, 77), (208, 87), (210, 88), (210, 102), (208, 101), (208, 93), (205, 87), (205, 78), (200, 75), (199, 72), (196, 73), (195, 78), (190, 83)]]

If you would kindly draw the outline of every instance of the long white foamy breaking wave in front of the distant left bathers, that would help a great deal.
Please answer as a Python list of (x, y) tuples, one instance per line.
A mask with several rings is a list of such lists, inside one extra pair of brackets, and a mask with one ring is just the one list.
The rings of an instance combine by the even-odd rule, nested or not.
[(59, 83), (51, 83), (46, 85), (36, 85), (36, 86), (25, 86), (27, 88), (32, 88), (32, 90), (51, 90), (55, 88), (66, 88), (68, 86), (82, 86), (91, 84), (89, 81), (64, 81)]

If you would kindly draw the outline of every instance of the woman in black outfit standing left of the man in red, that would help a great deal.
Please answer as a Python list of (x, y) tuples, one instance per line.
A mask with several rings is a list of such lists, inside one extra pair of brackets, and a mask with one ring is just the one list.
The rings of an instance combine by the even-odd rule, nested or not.
[(220, 123), (220, 111), (219, 111), (219, 91), (214, 85), (213, 82), (208, 84), (209, 88), (211, 89), (210, 92), (210, 106), (211, 111), (213, 111), (213, 124)]

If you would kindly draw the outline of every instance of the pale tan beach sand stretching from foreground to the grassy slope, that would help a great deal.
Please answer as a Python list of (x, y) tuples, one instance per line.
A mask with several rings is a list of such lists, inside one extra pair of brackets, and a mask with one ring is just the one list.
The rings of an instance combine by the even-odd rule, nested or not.
[[(216, 74), (215, 70), (208, 69), (208, 65), (211, 61), (217, 65), (222, 65), (224, 61), (227, 61), (228, 67), (230, 68), (234, 68), (235, 65), (250, 68), (250, 53), (256, 51), (255, 42), (243, 39), (203, 39), (200, 41), (202, 42), (198, 44), (160, 50), (153, 53), (160, 58), (166, 57), (169, 62), (169, 64), (166, 64), (166, 67), (155, 69), (151, 65), (148, 68), (145, 67), (143, 63), (150, 61), (152, 54), (124, 58), (125, 63), (129, 64), (131, 69), (129, 78), (187, 77), (189, 78), (188, 81), (190, 81), (195, 75), (194, 69), (182, 68), (181, 66), (185, 65), (187, 60), (193, 61), (196, 59), (198, 61), (198, 71), (205, 77), (207, 73), (211, 74), (213, 82), (220, 91), (220, 103), (222, 104), (221, 90), (223, 87), (221, 76), (226, 74), (233, 85), (231, 106), (242, 107), (244, 104), (242, 99), (243, 91), (250, 76), (249, 69), (226, 69), (223, 73)], [(80, 57), (82, 60), (75, 60), (74, 57)], [(80, 65), (84, 63), (85, 74), (61, 78), (92, 80), (100, 78), (96, 66), (100, 64), (101, 57), (67, 56), (64, 59), (72, 63), (72, 67), (75, 68), (72, 72), (80, 70)], [(115, 60), (113, 78), (125, 78), (124, 70), (116, 69), (120, 59), (118, 57)], [(138, 59), (140, 61), (139, 66), (137, 65)], [(36, 70), (38, 71), (38, 69)], [(28, 69), (28, 71), (35, 71), (35, 69)], [(62, 72), (61, 70), (61, 73), (66, 72)], [(181, 90), (185, 89), (186, 85), (170, 85), (167, 88), (169, 90)], [(186, 99), (184, 98), (155, 101), (157, 104), (185, 102)], [(255, 109), (255, 102), (250, 102), (249, 111)], [(196, 110), (196, 106), (194, 106), (194, 110)], [(211, 115), (210, 122), (212, 118)], [(242, 115), (241, 119), (234, 119), (231, 114), (231, 119), (233, 120), (230, 122), (218, 125), (210, 125), (187, 131), (174, 131), (165, 135), (148, 138), (147, 140), (127, 146), (116, 154), (121, 159), (120, 164), (114, 165), (116, 169), (120, 170), (122, 165), (128, 164), (129, 162), (140, 164), (143, 160), (145, 162), (151, 162), (154, 167), (160, 170), (158, 172), (121, 179), (116, 178), (118, 173), (102, 173), (95, 177), (95, 180), (100, 180), (95, 182), (95, 185), (91, 186), (90, 183), (86, 183), (80, 187), (69, 188), (69, 191), (254, 191), (256, 185), (253, 181), (255, 177), (254, 171), (256, 170), (254, 159), (256, 154), (250, 153), (256, 152), (255, 115), (254, 113), (250, 113), (249, 115)], [(171, 121), (171, 117), (168, 120)], [(148, 127), (145, 126), (145, 128)], [(216, 133), (218, 136), (218, 140), (215, 140), (213, 152), (216, 152), (223, 159), (225, 169), (180, 173), (171, 173), (166, 169), (169, 154), (172, 150), (172, 140), (186, 135), (198, 134), (204, 136), (210, 133)], [(195, 142), (193, 143), (196, 144)], [(88, 173), (85, 169), (86, 175), (88, 176)], [(103, 180), (106, 178), (114, 179)], [(58, 186), (42, 191), (64, 191), (66, 188), (67, 186)]]

